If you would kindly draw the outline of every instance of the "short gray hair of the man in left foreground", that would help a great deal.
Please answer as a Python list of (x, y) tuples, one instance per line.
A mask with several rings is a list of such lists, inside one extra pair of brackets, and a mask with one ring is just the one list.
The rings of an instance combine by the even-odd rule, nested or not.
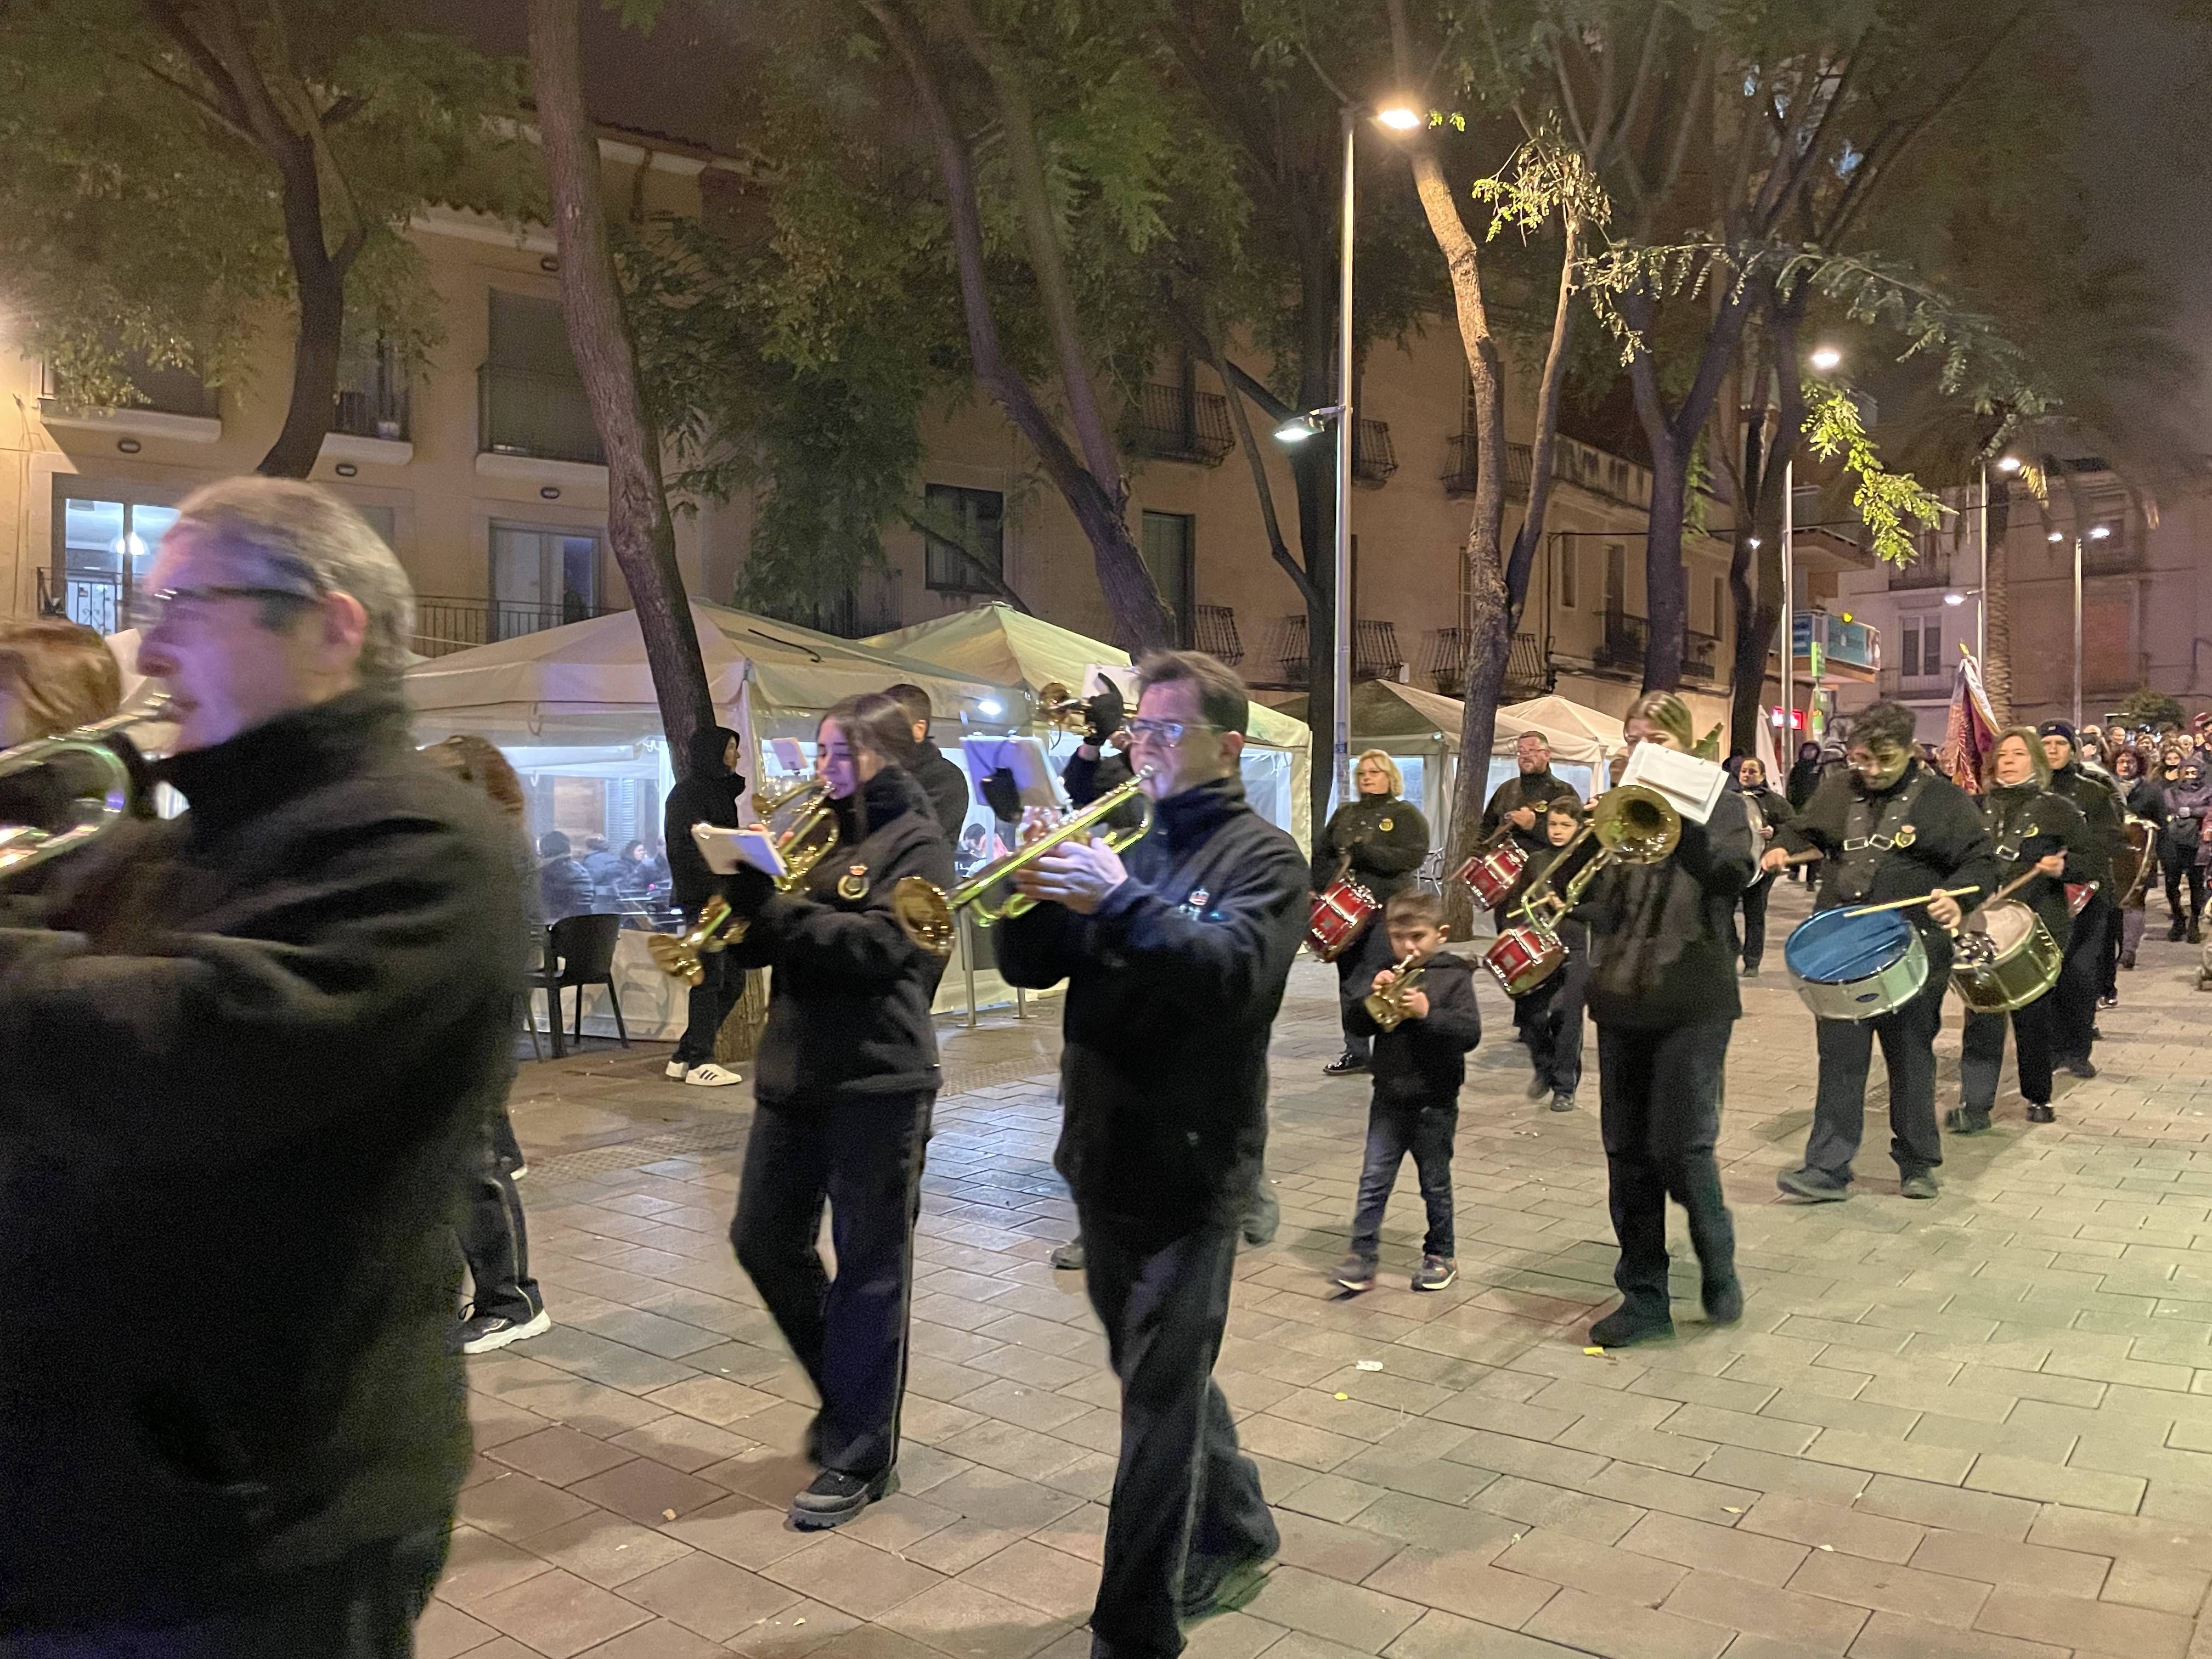
[(347, 593), (367, 613), (361, 681), (396, 686), (414, 637), (414, 584), (385, 538), (321, 484), (296, 478), (223, 478), (177, 507), (175, 529), (250, 551), (316, 593)]

